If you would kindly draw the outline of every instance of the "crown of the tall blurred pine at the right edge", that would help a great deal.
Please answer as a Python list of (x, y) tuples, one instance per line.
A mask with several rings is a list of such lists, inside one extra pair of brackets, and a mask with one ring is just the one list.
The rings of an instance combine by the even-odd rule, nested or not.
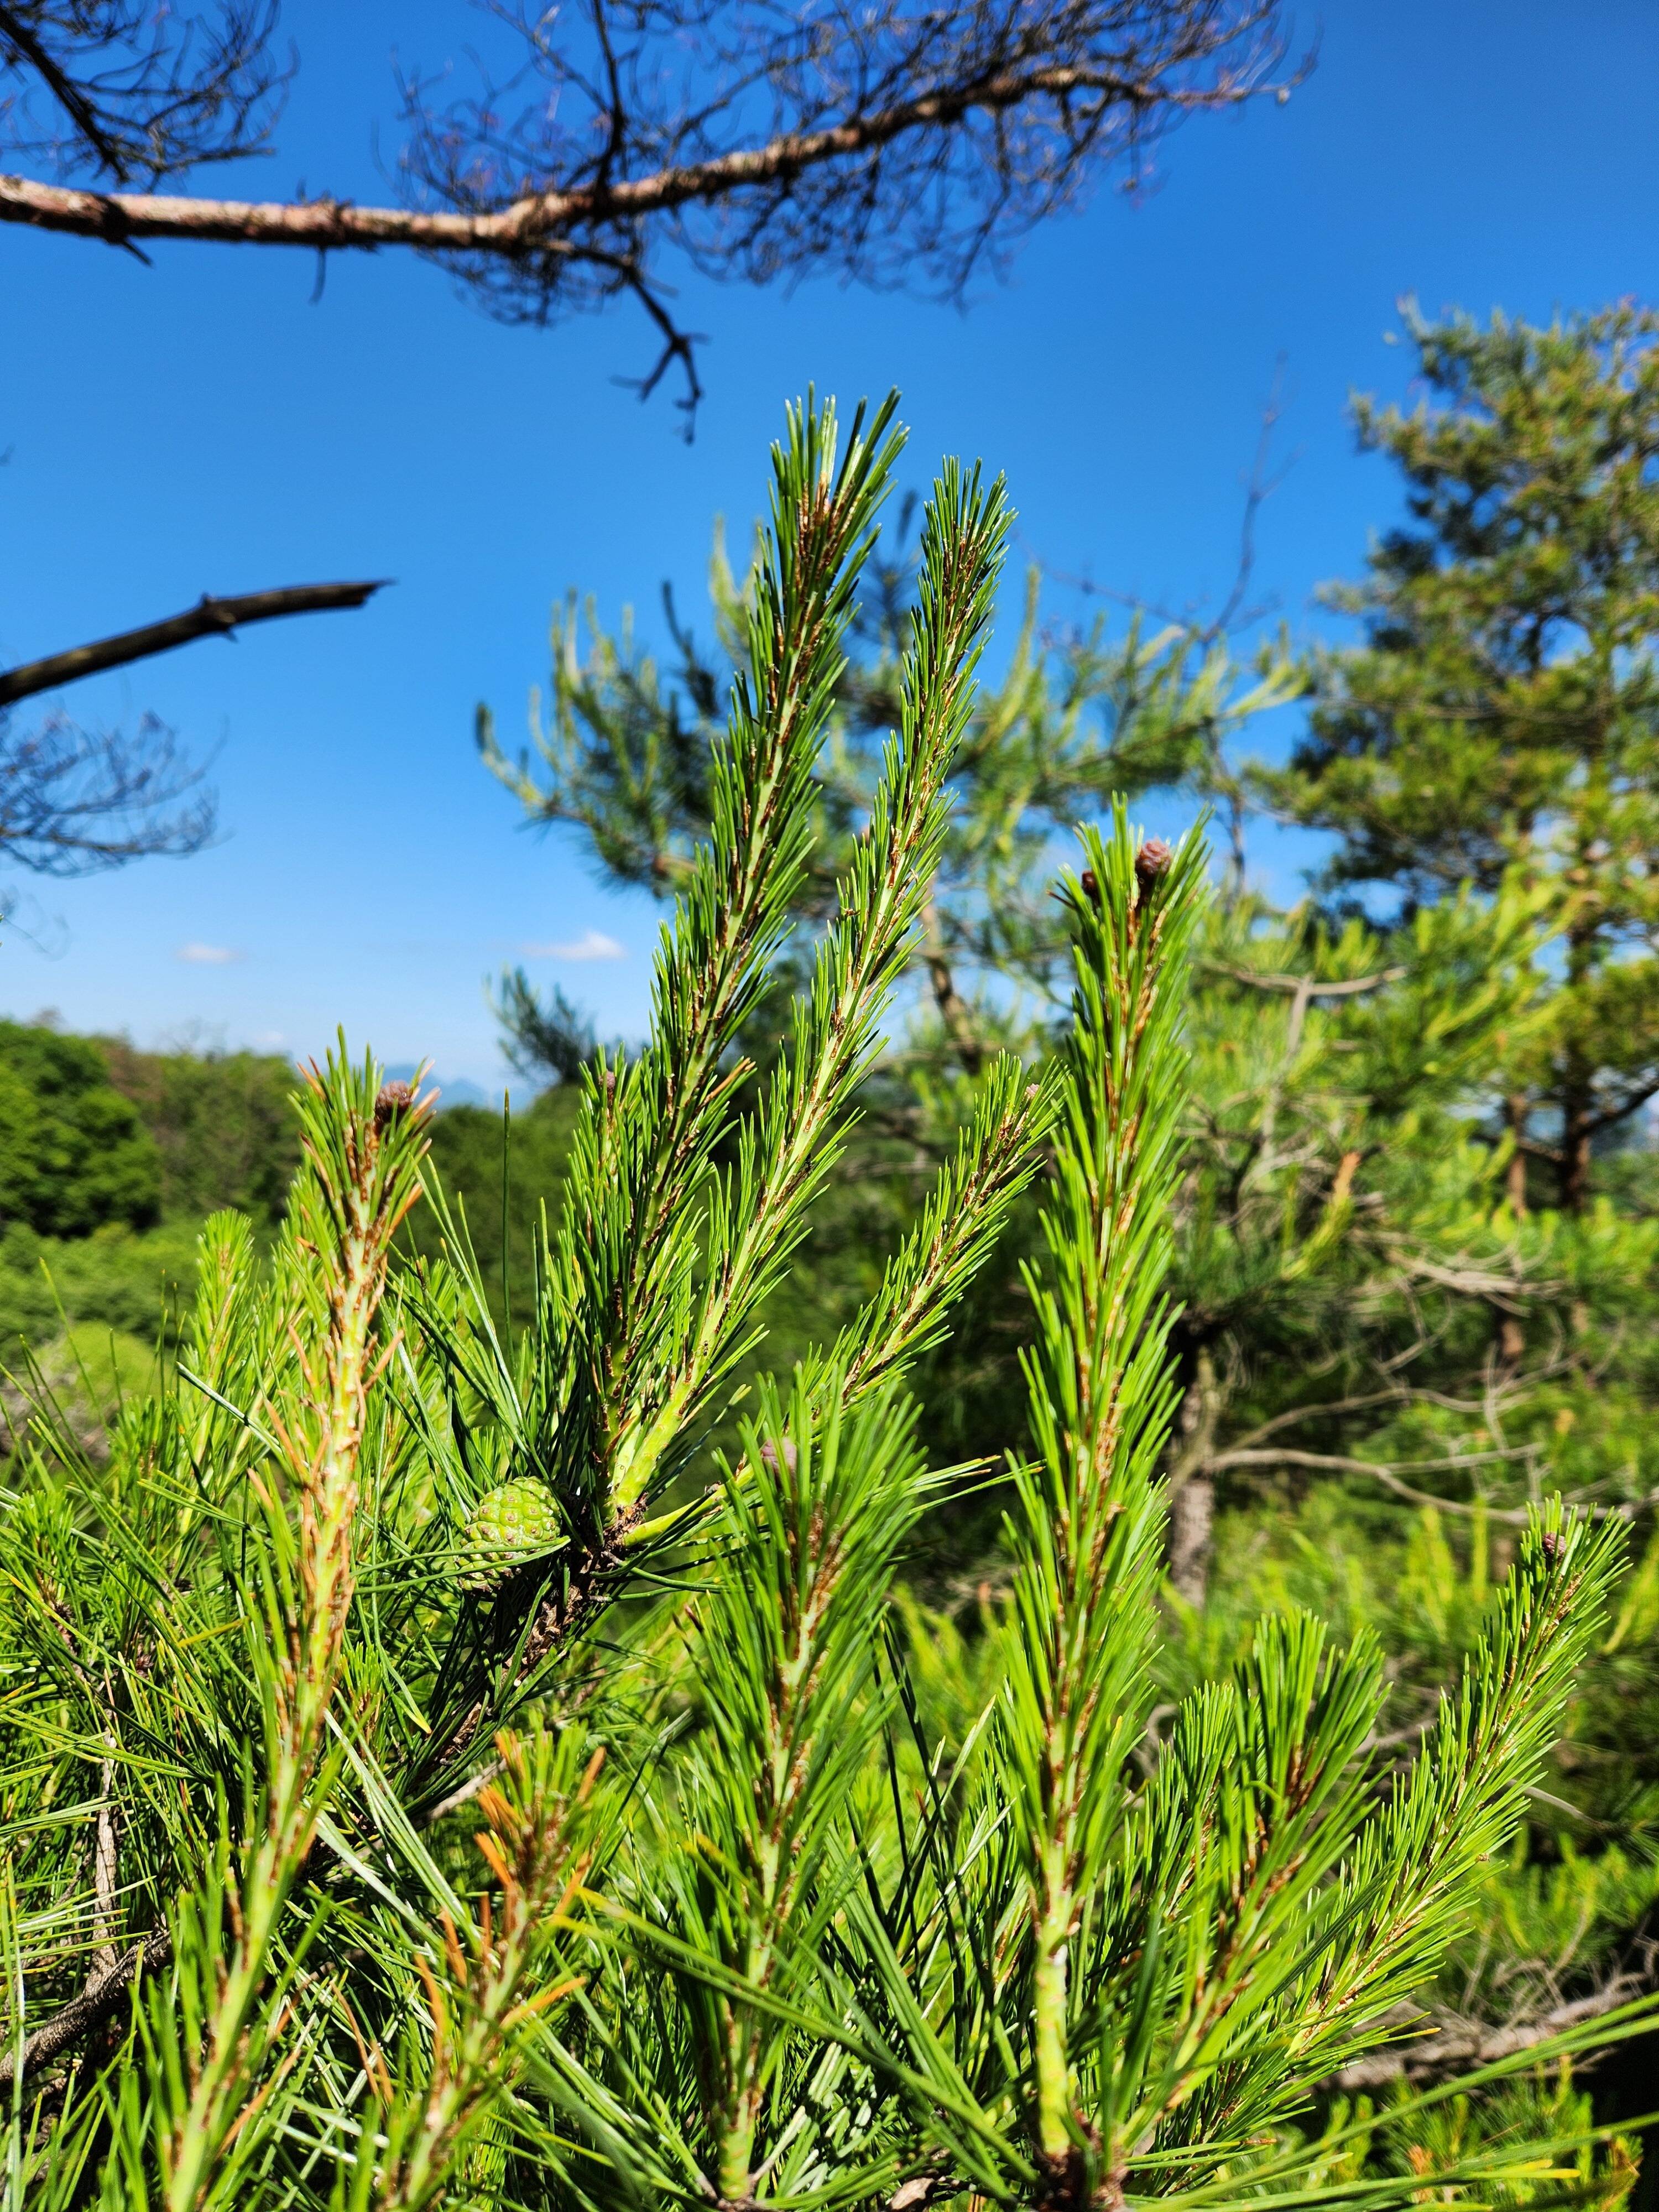
[(1409, 314), (1407, 336), (1425, 400), (1356, 420), (1409, 522), (1329, 591), (1365, 644), (1318, 657), (1307, 737), (1267, 783), (1338, 834), (1332, 887), (1425, 902), (1520, 869), (1548, 889), (1559, 964), (1506, 1117), (1579, 1212), (1597, 1139), (1659, 1093), (1659, 316)]

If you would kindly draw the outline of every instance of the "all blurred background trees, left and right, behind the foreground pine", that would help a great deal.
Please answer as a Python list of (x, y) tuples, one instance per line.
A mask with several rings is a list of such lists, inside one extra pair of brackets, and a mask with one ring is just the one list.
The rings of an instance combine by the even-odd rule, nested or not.
[[(832, 1343), (962, 1130), (995, 1055), (1037, 1075), (1068, 1033), (1055, 872), (1113, 794), (1159, 825), (1208, 816), (1214, 896), (1192, 947), (1190, 1097), (1170, 1199), (1177, 1409), (1161, 1473), (1157, 1761), (1177, 1703), (1245, 1655), (1256, 1615), (1371, 1630), (1407, 1759), (1473, 1648), (1528, 1506), (1562, 1493), (1628, 1535), (1628, 1568), (1551, 1770), (1489, 1867), (1478, 1933), (1431, 1991), (1433, 2031), (1343, 2075), (1400, 2084), (1526, 2051), (1655, 1986), (1659, 1955), (1659, 319), (1630, 305), (1531, 327), (1409, 319), (1420, 403), (1360, 405), (1407, 520), (1329, 588), (1347, 641), (1241, 646), (1248, 568), (1217, 619), (1137, 611), (1066, 633), (1004, 584), (1000, 675), (951, 770), (896, 1042), (863, 1082), (754, 1369)], [(1254, 493), (1252, 493), (1254, 498)], [(739, 1102), (790, 1040), (902, 712), (909, 518), (867, 571), (812, 770), (812, 860), (734, 1040)], [(650, 584), (641, 577), (641, 588)], [(710, 608), (653, 657), (573, 597), (522, 752), (480, 710), (482, 765), (531, 823), (666, 909), (712, 827), (710, 759), (757, 571), (719, 535)], [(1290, 752), (1259, 717), (1298, 706)], [(1283, 717), (1281, 717), (1283, 723)], [(1272, 765), (1270, 765), (1272, 763)], [(1263, 825), (1321, 834), (1307, 891), (1261, 889)], [(442, 1113), (431, 1157), (495, 1321), (535, 1305), (593, 1024), (522, 969), (498, 1013), (524, 1104)], [(595, 1077), (595, 1068), (599, 1077)], [(100, 1422), (173, 1358), (206, 1214), (270, 1248), (299, 1161), (292, 1071), (0, 1026), (0, 1329), (13, 1444), (60, 1407)], [(931, 1723), (964, 1743), (995, 1688), (1013, 1559), (1000, 1453), (1020, 1433), (1042, 1188), (1009, 1217), (960, 1325), (914, 1387), (931, 1464), (984, 1462), (905, 1553), (902, 1632)], [(431, 1261), (442, 1221), (403, 1232)], [(33, 1383), (31, 1383), (33, 1376)], [(726, 1416), (706, 1449), (732, 1447)], [(684, 1475), (688, 1495), (697, 1471)], [(1559, 2062), (1458, 2128), (1619, 2119), (1655, 2104), (1637, 2044)], [(1553, 2124), (1553, 2121), (1551, 2121)], [(1444, 2146), (1442, 2146), (1444, 2148)], [(1617, 2201), (1632, 2150), (1586, 2168)], [(1586, 2181), (1586, 2185), (1590, 2185)], [(1635, 2183), (1652, 2199), (1652, 2177)]]

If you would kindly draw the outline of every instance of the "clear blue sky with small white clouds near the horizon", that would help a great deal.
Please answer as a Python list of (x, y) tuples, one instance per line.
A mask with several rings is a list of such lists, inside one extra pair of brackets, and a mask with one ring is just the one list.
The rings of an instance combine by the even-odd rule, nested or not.
[[(383, 197), (392, 53), (458, 53), (462, 0), (288, 0), (301, 77), (274, 161), (228, 188)], [(484, 975), (531, 973), (639, 1031), (659, 916), (580, 845), (526, 834), (471, 714), (522, 726), (568, 586), (650, 628), (701, 604), (714, 513), (748, 526), (783, 403), (898, 385), (911, 476), (1006, 471), (1022, 546), (1181, 604), (1232, 568), (1239, 476), (1285, 356), (1296, 456), (1261, 588), (1310, 626), (1396, 513), (1354, 453), (1352, 389), (1398, 392), (1394, 301), (1535, 319), (1659, 292), (1659, 11), (1650, 0), (1332, 0), (1283, 106), (1194, 119), (1130, 204), (1102, 190), (1026, 243), (967, 316), (810, 283), (688, 281), (710, 334), (697, 442), (613, 383), (650, 358), (630, 310), (504, 330), (442, 272), (164, 246), (150, 270), (0, 230), (0, 664), (155, 619), (201, 591), (396, 577), (365, 613), (272, 624), (75, 686), (217, 750), (223, 841), (190, 860), (22, 885), (0, 1011), (75, 1029), (310, 1053), (345, 1022), (389, 1060), (498, 1082)], [(210, 188), (212, 177), (204, 177)], [(1075, 613), (1055, 591), (1053, 613)], [(1009, 608), (1009, 615), (1013, 608)], [(1004, 624), (1006, 628), (1006, 624)], [(1168, 827), (1172, 827), (1170, 823)], [(1166, 827), (1166, 825), (1159, 825)], [(1279, 852), (1283, 867), (1283, 847)], [(546, 947), (615, 940), (622, 958)], [(230, 960), (181, 958), (188, 949)]]

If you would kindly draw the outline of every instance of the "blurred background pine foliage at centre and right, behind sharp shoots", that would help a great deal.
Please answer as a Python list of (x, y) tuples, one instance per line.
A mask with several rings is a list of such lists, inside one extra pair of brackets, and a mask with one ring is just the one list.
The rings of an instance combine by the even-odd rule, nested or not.
[[(841, 1329), (916, 1219), (918, 1170), (971, 1115), (989, 1044), (1033, 1068), (1053, 1055), (1068, 960), (1057, 832), (1115, 787), (1210, 801), (1232, 849), (1194, 920), (1183, 1172), (1168, 1192), (1161, 1703), (1230, 1679), (1259, 1610), (1301, 1604), (1380, 1639), (1383, 1734), (1405, 1756), (1469, 1659), (1531, 1502), (1564, 1493), (1635, 1524), (1617, 1621), (1528, 1803), (1522, 1871), (1480, 1889), (1480, 1933), (1418, 1991), (1438, 2053), (1422, 2075), (1513, 2048), (1564, 2008), (1590, 2020), (1652, 1975), (1652, 334), (1628, 307), (1546, 332), (1409, 323), (1425, 405), (1358, 409), (1363, 445), (1400, 465), (1407, 524), (1360, 586), (1332, 595), (1365, 624), (1354, 648), (1296, 661), (1281, 639), (1245, 668), (1221, 628), (1055, 639), (1029, 602), (958, 750), (907, 1033), (863, 1088), (847, 1168), (801, 1248), (805, 1281), (765, 1310), (765, 1358)], [(823, 863), (741, 1040), (761, 1071), (821, 938), (834, 856), (867, 812), (909, 591), (902, 562), (874, 566), (849, 626), (814, 770)], [(684, 878), (748, 597), (717, 546), (719, 650), (697, 648), (670, 604), (672, 668), (591, 611), (584, 644), (571, 602), (535, 752), (509, 761), (480, 721), (493, 772), (533, 818), (577, 825), (613, 880), (668, 896)], [(1298, 686), (1312, 717), (1290, 768), (1241, 761), (1250, 719)], [(1318, 896), (1292, 911), (1248, 887), (1248, 812), (1263, 801), (1336, 832)], [(936, 1462), (998, 1460), (1013, 1433), (1042, 1259), (1029, 1201), (916, 1369)], [(911, 1679), (973, 1759), (984, 1699), (1022, 1663), (1004, 1500), (982, 1478), (925, 1515), (911, 1551), (951, 1608), (914, 1613)], [(1464, 1531), (1484, 1533), (1464, 1546)], [(1263, 1566), (1234, 1586), (1239, 1544), (1265, 1546), (1279, 1579)], [(1166, 1721), (1144, 1759), (1166, 1754)], [(1568, 1891), (1588, 1911), (1575, 1944), (1557, 1913)], [(1365, 2157), (1396, 2157), (1380, 2146)], [(1601, 2181), (1617, 2194), (1613, 2170)]]

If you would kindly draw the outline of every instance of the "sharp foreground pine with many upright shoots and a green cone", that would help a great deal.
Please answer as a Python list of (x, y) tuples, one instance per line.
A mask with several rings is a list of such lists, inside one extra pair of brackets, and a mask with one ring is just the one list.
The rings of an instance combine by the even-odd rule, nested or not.
[[(712, 834), (648, 1044), (582, 1077), (520, 1332), (460, 1223), (398, 1274), (427, 1110), (341, 1055), (272, 1265), (219, 1217), (177, 1374), (108, 1462), (60, 1436), (13, 1469), (9, 2203), (1621, 2197), (1617, 2152), (1436, 2139), (1442, 2093), (1380, 2130), (1314, 2108), (1469, 1927), (1601, 1632), (1615, 1528), (1528, 1517), (1391, 1778), (1376, 1644), (1294, 1613), (1179, 1703), (1148, 1774), (1197, 841), (1137, 843), (1121, 807), (1086, 836), (1053, 1075), (984, 1068), (878, 1292), (703, 1458), (878, 1048), (971, 726), (1006, 515), (947, 467), (885, 776), (745, 1088), (896, 449), (889, 403), (845, 451), (807, 407), (776, 453)], [(1004, 1686), (951, 1754), (885, 1606), (951, 1482), (905, 1371), (1044, 1137)]]

